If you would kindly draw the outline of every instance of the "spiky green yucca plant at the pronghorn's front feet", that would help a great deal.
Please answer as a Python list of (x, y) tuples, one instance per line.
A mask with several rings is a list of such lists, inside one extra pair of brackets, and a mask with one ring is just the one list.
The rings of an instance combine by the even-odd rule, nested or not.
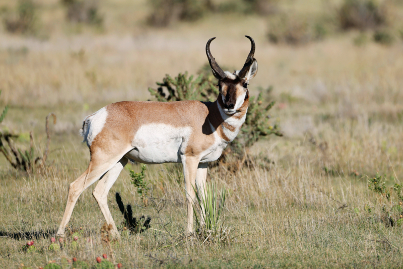
[[(194, 189), (194, 188), (193, 188)], [(196, 231), (199, 235), (206, 237), (212, 235), (219, 235), (220, 238), (225, 233), (223, 230), (223, 211), (225, 205), (226, 191), (224, 186), (221, 189), (221, 193), (218, 194), (217, 186), (215, 183), (206, 184), (204, 189), (199, 189), (196, 191), (196, 201), (197, 206), (193, 206), (193, 213), (196, 219)], [(204, 197), (202, 194), (204, 193)], [(199, 208), (199, 209), (198, 209)], [(201, 220), (204, 219), (203, 224)]]

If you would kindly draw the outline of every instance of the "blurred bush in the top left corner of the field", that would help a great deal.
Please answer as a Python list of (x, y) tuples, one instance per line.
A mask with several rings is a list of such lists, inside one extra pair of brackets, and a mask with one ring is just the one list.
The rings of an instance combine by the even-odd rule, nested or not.
[(3, 11), (4, 25), (10, 33), (35, 33), (37, 30), (36, 6), (32, 0), (19, 0), (17, 12)]

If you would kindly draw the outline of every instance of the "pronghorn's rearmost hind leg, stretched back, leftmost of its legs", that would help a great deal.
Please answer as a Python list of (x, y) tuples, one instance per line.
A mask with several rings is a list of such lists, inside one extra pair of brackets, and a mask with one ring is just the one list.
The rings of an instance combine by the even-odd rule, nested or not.
[(80, 194), (91, 184), (95, 183), (103, 174), (115, 166), (115, 164), (122, 158), (123, 154), (119, 157), (103, 162), (97, 160), (96, 158), (94, 158), (94, 160), (91, 156), (91, 161), (87, 170), (69, 185), (69, 195), (67, 196), (66, 209), (64, 210), (63, 218), (61, 220), (59, 229), (57, 230), (57, 236), (64, 236), (64, 229), (70, 221), (74, 206), (76, 205)]

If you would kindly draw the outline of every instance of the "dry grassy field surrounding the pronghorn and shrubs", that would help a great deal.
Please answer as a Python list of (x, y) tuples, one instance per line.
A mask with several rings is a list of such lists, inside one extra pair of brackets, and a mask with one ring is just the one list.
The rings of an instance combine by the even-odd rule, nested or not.
[[(272, 85), (266, 100), (285, 136), (261, 140), (251, 149), (252, 164), (237, 172), (209, 169), (208, 181), (227, 189), (224, 211), (229, 236), (222, 242), (183, 238), (186, 225), (181, 166), (147, 165), (146, 178), (158, 213), (142, 200), (124, 169), (109, 193), (116, 225), (123, 217), (115, 192), (133, 205), (136, 217), (150, 216), (151, 229), (122, 235), (112, 243), (123, 268), (266, 268), (354, 267), (401, 268), (402, 226), (386, 199), (368, 189), (368, 180), (386, 175), (386, 186), (403, 178), (403, 42), (389, 46), (368, 41), (357, 46), (356, 31), (335, 32), (324, 40), (299, 46), (267, 41), (270, 18), (254, 15), (208, 15), (170, 28), (146, 25), (145, 1), (103, 1), (103, 29), (71, 25), (56, 0), (38, 1), (44, 37), (0, 31), (1, 107), (10, 105), (3, 129), (21, 132), (35, 154), (46, 144), (45, 116), (57, 115), (46, 170), (13, 169), (0, 158), (0, 267), (23, 263), (37, 268), (49, 260), (77, 257), (95, 266), (109, 248), (101, 240), (104, 223), (91, 191), (85, 190), (74, 209), (70, 228), (82, 231), (79, 246), (66, 238), (58, 251), (48, 249), (64, 211), (69, 184), (89, 162), (78, 135), (82, 119), (119, 100), (147, 100), (165, 74), (195, 74), (207, 57), (205, 45), (221, 66), (240, 69), (256, 41), (259, 71), (251, 81), (256, 95)], [(319, 0), (284, 1), (283, 11), (327, 12)], [(333, 3), (333, 2), (332, 2)], [(340, 1), (335, 1), (337, 5)], [(9, 5), (0, 1), (0, 6)], [(395, 16), (401, 13), (401, 6)], [(45, 33), (45, 34), (43, 34)], [(370, 33), (367, 33), (370, 36)], [(263, 157), (272, 164), (260, 165)], [(136, 172), (140, 165), (128, 165)], [(395, 207), (396, 208), (396, 207)], [(388, 212), (394, 214), (390, 227)], [(395, 216), (396, 215), (396, 216)], [(89, 240), (91, 239), (91, 240)], [(22, 250), (34, 240), (37, 251)], [(65, 268), (70, 268), (65, 266)]]

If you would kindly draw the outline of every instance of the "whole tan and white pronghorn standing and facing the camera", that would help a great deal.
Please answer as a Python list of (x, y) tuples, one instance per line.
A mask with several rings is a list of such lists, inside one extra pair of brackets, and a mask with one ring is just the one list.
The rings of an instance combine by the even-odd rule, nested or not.
[[(215, 102), (118, 102), (85, 118), (80, 130), (90, 149), (87, 170), (69, 185), (67, 205), (57, 235), (63, 236), (78, 197), (95, 181), (92, 192), (113, 234), (118, 236), (108, 208), (107, 195), (123, 167), (130, 161), (146, 164), (182, 163), (187, 200), (186, 233), (193, 231), (195, 192), (206, 184), (207, 164), (217, 160), (235, 139), (249, 104), (248, 82), (257, 73), (255, 43), (240, 71), (224, 72), (206, 53), (220, 94)], [(204, 194), (204, 191), (201, 191)]]

